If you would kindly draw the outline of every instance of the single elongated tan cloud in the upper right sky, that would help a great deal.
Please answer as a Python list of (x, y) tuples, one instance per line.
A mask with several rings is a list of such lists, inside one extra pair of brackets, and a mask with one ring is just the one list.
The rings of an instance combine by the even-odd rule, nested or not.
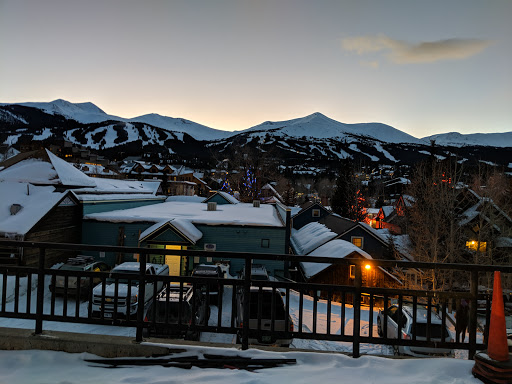
[(385, 52), (387, 59), (396, 64), (462, 60), (482, 52), (490, 44), (491, 41), (479, 39), (447, 39), (413, 44), (384, 35), (342, 40), (342, 47), (347, 51), (358, 55)]

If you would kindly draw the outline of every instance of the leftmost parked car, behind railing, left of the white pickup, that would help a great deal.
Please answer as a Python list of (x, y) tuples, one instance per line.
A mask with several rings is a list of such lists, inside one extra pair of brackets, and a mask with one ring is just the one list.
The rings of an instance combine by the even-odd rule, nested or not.
[[(69, 258), (65, 264), (62, 264), (59, 271), (79, 271), (79, 272), (108, 272), (110, 266), (103, 261), (96, 261), (92, 256), (77, 256)], [(74, 276), (68, 277), (68, 295), (76, 295), (78, 293), (77, 282), (80, 281), (80, 296), (88, 296), (91, 288), (100, 282), (99, 277), (91, 279), (89, 277), (81, 277), (78, 279)], [(56, 295), (63, 295), (65, 292), (66, 279), (64, 276), (55, 277), (55, 286), (50, 284), (49, 289)]]

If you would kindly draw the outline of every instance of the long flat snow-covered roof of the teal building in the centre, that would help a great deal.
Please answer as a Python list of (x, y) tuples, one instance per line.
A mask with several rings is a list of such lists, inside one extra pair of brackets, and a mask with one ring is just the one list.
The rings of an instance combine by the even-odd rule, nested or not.
[(111, 212), (86, 215), (85, 219), (109, 222), (154, 222), (159, 223), (173, 218), (189, 220), (194, 224), (231, 224), (283, 227), (272, 205), (259, 208), (252, 204), (218, 205), (217, 210), (208, 211), (203, 203), (186, 201), (168, 201)]

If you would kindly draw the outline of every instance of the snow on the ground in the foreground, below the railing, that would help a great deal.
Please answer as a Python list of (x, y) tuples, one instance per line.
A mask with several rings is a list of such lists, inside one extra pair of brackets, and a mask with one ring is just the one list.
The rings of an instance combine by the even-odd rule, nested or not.
[[(181, 347), (181, 346), (180, 346)], [(341, 354), (306, 352), (267, 352), (259, 350), (188, 347), (187, 352), (172, 357), (223, 354), (251, 358), (296, 359), (296, 364), (254, 371), (214, 368), (164, 368), (162, 366), (108, 369), (85, 359), (97, 358), (87, 353), (55, 351), (0, 351), (0, 381), (5, 383), (379, 383), (379, 384), (477, 384), (471, 368), (474, 362), (449, 358), (386, 359)], [(343, 378), (346, 378), (343, 380)]]

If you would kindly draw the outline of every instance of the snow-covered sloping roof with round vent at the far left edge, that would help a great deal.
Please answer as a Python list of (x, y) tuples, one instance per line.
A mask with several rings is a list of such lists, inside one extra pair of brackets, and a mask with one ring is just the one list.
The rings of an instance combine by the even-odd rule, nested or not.
[[(35, 186), (28, 183), (0, 181), (0, 233), (25, 235), (68, 192), (55, 192), (53, 186)], [(11, 206), (21, 209), (11, 214)]]

